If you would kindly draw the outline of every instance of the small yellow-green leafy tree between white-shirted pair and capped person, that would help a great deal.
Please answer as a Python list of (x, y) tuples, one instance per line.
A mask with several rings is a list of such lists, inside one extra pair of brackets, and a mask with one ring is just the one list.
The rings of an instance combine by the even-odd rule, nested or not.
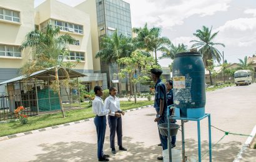
[(130, 57), (123, 57), (117, 62), (124, 65), (119, 76), (125, 78), (126, 74), (129, 74), (129, 79), (134, 84), (134, 102), (136, 103), (136, 84), (141, 80), (149, 80), (150, 69), (159, 68), (159, 66), (155, 64), (153, 57), (147, 57), (140, 50), (135, 50)]

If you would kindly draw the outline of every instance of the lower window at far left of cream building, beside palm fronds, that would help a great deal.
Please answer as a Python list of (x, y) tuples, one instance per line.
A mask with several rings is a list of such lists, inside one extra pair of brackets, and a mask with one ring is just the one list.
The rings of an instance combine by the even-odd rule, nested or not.
[(21, 57), (21, 49), (19, 49), (19, 46), (0, 44), (0, 57), (1, 56)]

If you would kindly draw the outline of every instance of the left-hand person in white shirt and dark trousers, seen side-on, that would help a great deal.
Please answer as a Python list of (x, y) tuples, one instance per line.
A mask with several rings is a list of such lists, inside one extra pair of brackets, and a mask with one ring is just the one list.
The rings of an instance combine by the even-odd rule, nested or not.
[(94, 93), (96, 97), (92, 102), (92, 112), (96, 114), (94, 118), (94, 124), (97, 131), (97, 158), (99, 161), (109, 161), (109, 155), (104, 155), (103, 145), (106, 133), (107, 120), (106, 115), (111, 113), (111, 110), (106, 110), (102, 100), (102, 88), (100, 86), (94, 87)]

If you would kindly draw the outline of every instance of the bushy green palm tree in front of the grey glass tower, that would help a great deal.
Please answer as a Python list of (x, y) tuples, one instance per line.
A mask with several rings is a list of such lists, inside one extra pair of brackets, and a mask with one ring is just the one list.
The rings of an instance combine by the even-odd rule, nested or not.
[[(134, 44), (132, 44), (132, 39), (130, 37), (125, 37), (122, 34), (118, 36), (117, 31), (115, 31), (111, 37), (102, 37), (100, 45), (101, 50), (96, 53), (96, 58), (100, 58), (109, 65), (116, 64), (117, 59), (120, 59), (122, 57), (129, 57), (134, 50)], [(119, 64), (117, 64), (117, 70), (118, 74), (120, 72)], [(122, 89), (121, 86), (122, 83), (119, 80), (119, 92)]]

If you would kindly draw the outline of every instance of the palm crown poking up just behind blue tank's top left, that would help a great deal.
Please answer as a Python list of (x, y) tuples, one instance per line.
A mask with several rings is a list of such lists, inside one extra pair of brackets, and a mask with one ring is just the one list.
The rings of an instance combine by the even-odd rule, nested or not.
[(167, 46), (167, 49), (162, 49), (162, 56), (159, 57), (159, 59), (174, 59), (175, 54), (187, 51), (187, 45), (179, 44), (178, 46), (175, 46), (174, 44), (170, 43)]

